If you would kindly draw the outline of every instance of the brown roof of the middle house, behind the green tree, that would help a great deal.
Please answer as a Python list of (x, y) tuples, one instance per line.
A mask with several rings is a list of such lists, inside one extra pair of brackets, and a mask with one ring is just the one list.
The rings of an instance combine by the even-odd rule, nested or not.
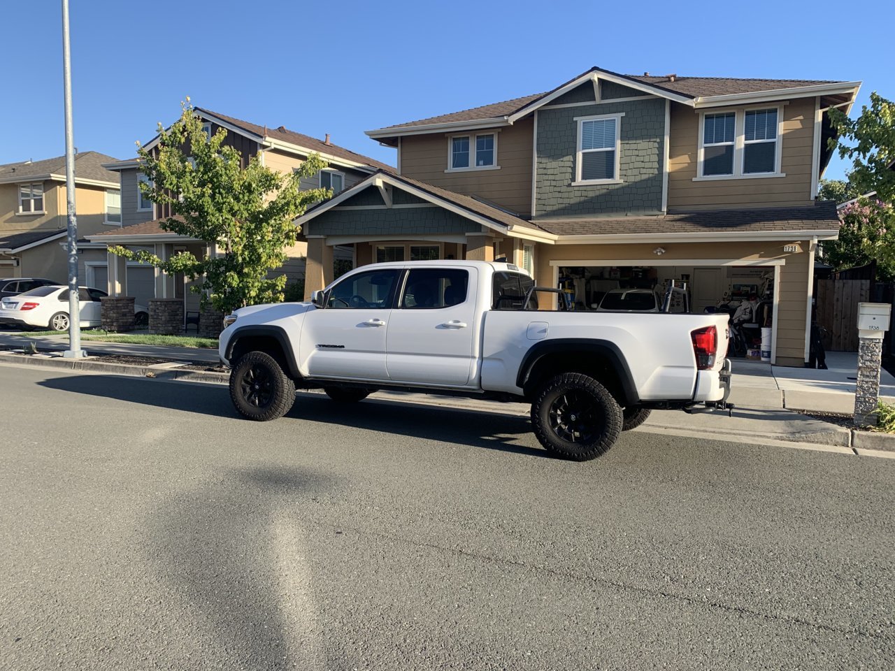
[[(305, 155), (311, 152), (316, 152), (320, 154), (320, 157), (324, 160), (329, 160), (330, 163), (343, 164), (347, 167), (354, 167), (364, 172), (395, 170), (393, 166), (382, 163), (375, 158), (363, 156), (351, 149), (339, 147), (331, 142), (327, 144), (324, 140), (312, 138), (310, 135), (290, 131), (286, 126), (268, 128), (268, 126), (260, 126), (257, 123), (243, 121), (243, 119), (237, 119), (234, 116), (221, 115), (217, 112), (205, 109), (204, 107), (194, 107), (193, 109), (202, 119), (218, 123), (218, 125), (229, 128), (230, 130), (237, 132), (250, 140), (255, 140), (262, 145), (267, 144), (277, 146), (277, 144), (279, 144), (281, 145), (281, 149), (298, 151)], [(158, 135), (152, 140), (149, 140), (149, 142), (144, 145), (144, 149), (151, 149), (157, 144)], [(127, 161), (125, 162), (125, 165), (117, 167), (121, 169), (123, 167), (132, 167), (132, 165), (130, 165), (130, 161)]]

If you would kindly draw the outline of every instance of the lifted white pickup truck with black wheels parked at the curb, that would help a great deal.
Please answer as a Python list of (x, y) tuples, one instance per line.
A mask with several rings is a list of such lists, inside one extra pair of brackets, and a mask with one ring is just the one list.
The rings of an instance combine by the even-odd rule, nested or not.
[(728, 407), (727, 315), (575, 312), (563, 299), (507, 263), (372, 264), (311, 302), (236, 310), (220, 358), (250, 420), (281, 417), (296, 386), (340, 403), (378, 389), (524, 401), (541, 445), (578, 461), (651, 409)]

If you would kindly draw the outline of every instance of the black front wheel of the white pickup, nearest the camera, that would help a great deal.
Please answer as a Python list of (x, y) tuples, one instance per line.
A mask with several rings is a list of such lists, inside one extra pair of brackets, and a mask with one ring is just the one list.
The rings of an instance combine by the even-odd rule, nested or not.
[(266, 352), (249, 352), (230, 373), (230, 398), (249, 420), (276, 420), (295, 402), (295, 383)]

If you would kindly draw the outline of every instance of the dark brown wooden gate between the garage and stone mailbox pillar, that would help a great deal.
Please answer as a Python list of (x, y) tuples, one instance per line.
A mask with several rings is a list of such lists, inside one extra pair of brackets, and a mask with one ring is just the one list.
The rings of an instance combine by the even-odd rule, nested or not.
[(827, 329), (827, 352), (857, 352), (857, 304), (870, 300), (870, 280), (819, 279), (817, 323)]

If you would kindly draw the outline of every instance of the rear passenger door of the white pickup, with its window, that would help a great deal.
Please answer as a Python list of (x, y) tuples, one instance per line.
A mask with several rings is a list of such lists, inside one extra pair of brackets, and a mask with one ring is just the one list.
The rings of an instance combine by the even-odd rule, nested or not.
[(414, 268), (388, 321), (388, 378), (463, 386), (473, 368), (475, 268)]

